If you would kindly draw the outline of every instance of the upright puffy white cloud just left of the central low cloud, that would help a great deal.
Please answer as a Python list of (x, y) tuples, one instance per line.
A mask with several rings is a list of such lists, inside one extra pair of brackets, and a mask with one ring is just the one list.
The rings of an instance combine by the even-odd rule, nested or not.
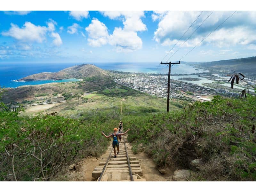
[(85, 30), (89, 33), (89, 45), (93, 47), (100, 47), (108, 43), (108, 28), (98, 19), (94, 18)]

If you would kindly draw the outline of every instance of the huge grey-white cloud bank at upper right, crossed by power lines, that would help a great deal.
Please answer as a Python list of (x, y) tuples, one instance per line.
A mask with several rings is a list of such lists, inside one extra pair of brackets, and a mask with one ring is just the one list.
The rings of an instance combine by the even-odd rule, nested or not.
[[(159, 19), (158, 28), (154, 32), (154, 40), (164, 46), (174, 45), (200, 13), (199, 11), (154, 12), (151, 15), (152, 19), (154, 21)], [(198, 44), (232, 13), (233, 11), (213, 12), (183, 47), (192, 47)], [(204, 11), (177, 46), (183, 44), (209, 14), (209, 11)], [(256, 12), (236, 12), (220, 28), (207, 37), (202, 44), (212, 44), (218, 47), (256, 44), (255, 16)]]

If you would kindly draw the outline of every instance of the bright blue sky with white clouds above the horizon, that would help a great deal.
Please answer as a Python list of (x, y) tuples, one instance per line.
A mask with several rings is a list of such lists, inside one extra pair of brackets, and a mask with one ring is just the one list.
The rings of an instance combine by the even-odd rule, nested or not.
[[(163, 60), (170, 58), (181, 46), (168, 60), (176, 61), (232, 13), (1, 11), (0, 62), (160, 62), (177, 43)], [(193, 21), (195, 23), (189, 28)], [(256, 56), (255, 52), (256, 12), (238, 11), (182, 61), (243, 58)]]

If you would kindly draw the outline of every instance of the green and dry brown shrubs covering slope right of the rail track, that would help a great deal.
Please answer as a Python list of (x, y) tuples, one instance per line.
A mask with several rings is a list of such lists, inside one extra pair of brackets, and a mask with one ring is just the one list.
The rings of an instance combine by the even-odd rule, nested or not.
[[(196, 102), (184, 110), (125, 116), (128, 140), (145, 149), (159, 168), (192, 169), (190, 180), (256, 180), (256, 98)], [(198, 166), (192, 160), (198, 159)]]

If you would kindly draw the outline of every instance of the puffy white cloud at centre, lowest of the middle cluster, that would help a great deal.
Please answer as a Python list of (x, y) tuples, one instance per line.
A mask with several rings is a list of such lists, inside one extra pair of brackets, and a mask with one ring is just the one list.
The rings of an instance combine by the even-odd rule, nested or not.
[(142, 40), (134, 31), (115, 28), (109, 36), (109, 44), (116, 46), (117, 52), (131, 52), (142, 47)]

